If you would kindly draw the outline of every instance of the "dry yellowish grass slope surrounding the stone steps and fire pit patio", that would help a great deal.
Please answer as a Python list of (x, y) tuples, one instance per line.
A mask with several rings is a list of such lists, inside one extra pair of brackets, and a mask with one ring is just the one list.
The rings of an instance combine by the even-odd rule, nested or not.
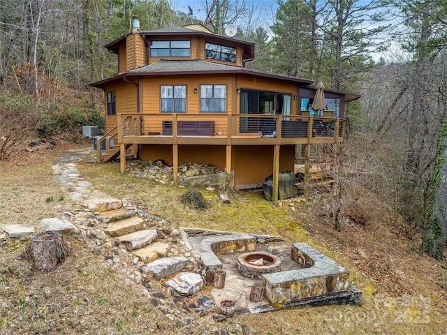
[[(70, 202), (52, 179), (57, 150), (32, 165), (0, 165), (0, 222), (34, 223), (58, 216)], [(44, 155), (40, 155), (44, 156)], [(0, 163), (1, 164), (1, 163)], [(281, 234), (306, 241), (351, 270), (363, 292), (362, 306), (324, 306), (242, 315), (222, 324), (209, 316), (200, 323), (238, 323), (257, 334), (446, 334), (446, 265), (418, 252), (419, 239), (406, 239), (388, 221), (369, 221), (335, 232), (331, 223), (304, 203), (296, 212), (275, 208), (254, 193), (235, 193), (231, 204), (200, 190), (205, 211), (179, 201), (185, 188), (121, 176), (117, 164), (80, 163), (82, 177), (117, 198), (128, 198), (174, 227), (198, 227)], [(38, 176), (38, 178), (36, 178)], [(47, 202), (48, 197), (53, 201)], [(56, 208), (55, 208), (56, 207)], [(17, 210), (19, 209), (19, 210)], [(383, 217), (386, 217), (383, 215)], [(203, 334), (205, 327), (171, 327), (139, 288), (124, 275), (101, 266), (102, 258), (80, 237), (68, 237), (73, 255), (51, 274), (36, 274), (22, 258), (26, 241), (0, 253), (0, 334)], [(444, 285), (444, 288), (442, 287)], [(6, 307), (7, 306), (7, 307)]]

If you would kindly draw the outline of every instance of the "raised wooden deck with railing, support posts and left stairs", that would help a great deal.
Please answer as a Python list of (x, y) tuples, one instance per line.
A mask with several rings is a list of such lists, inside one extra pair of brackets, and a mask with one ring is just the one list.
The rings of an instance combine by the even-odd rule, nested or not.
[[(305, 145), (305, 198), (309, 192), (309, 144), (343, 142), (346, 120), (330, 117), (273, 114), (118, 114), (117, 126), (98, 138), (98, 163), (120, 157), (126, 168), (126, 149), (133, 144), (169, 144), (173, 152), (173, 176), (177, 184), (179, 145), (226, 146), (225, 170), (232, 167), (232, 146), (273, 147), (273, 202), (277, 203), (279, 151), (281, 145)], [(112, 143), (114, 144), (112, 146)], [(319, 180), (323, 182), (323, 179)], [(317, 183), (318, 184), (318, 183)], [(301, 187), (301, 185), (297, 185)]]

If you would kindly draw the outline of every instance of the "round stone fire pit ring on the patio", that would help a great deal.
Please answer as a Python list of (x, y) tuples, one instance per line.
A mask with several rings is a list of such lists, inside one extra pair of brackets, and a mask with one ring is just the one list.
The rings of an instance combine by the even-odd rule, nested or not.
[(271, 253), (242, 253), (237, 258), (237, 269), (242, 276), (261, 279), (263, 274), (281, 271), (281, 260)]

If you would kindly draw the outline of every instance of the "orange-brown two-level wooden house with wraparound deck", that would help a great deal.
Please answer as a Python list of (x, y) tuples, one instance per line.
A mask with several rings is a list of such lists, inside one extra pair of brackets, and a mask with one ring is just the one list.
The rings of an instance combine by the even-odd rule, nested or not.
[(105, 47), (117, 54), (118, 73), (91, 84), (105, 93), (98, 162), (120, 155), (124, 172), (133, 147), (141, 159), (172, 163), (175, 183), (177, 165), (188, 162), (226, 170), (234, 188), (293, 171), (295, 144), (344, 140), (345, 103), (360, 97), (325, 90), (326, 110), (316, 114), (313, 80), (246, 68), (254, 43), (200, 24), (140, 31), (136, 22)]

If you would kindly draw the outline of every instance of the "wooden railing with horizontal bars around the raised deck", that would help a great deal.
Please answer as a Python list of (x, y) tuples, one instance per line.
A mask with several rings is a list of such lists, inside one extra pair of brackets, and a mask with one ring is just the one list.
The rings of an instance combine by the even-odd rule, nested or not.
[(119, 114), (117, 131), (120, 142), (125, 137), (132, 137), (135, 142), (138, 142), (135, 137), (209, 137), (227, 139), (227, 144), (244, 138), (251, 142), (259, 138), (265, 144), (291, 143), (293, 139), (306, 139), (309, 143), (340, 142), (346, 133), (346, 120), (274, 114), (133, 113)]

